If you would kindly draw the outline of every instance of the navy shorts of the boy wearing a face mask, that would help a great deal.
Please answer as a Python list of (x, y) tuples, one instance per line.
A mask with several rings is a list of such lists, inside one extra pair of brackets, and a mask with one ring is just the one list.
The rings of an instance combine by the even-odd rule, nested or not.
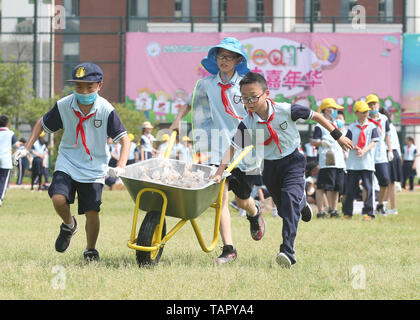
[(81, 183), (73, 180), (67, 173), (55, 171), (48, 194), (52, 198), (55, 194), (62, 194), (66, 197), (67, 203), (74, 203), (77, 192), (78, 213), (86, 211), (100, 211), (102, 204), (102, 183)]

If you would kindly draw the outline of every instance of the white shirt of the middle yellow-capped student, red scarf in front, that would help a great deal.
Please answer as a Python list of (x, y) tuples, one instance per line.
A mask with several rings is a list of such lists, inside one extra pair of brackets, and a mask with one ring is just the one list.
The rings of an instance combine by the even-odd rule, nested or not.
[[(357, 142), (359, 141), (359, 136), (361, 129), (357, 127), (357, 125), (360, 125), (358, 121), (352, 123), (348, 130), (346, 137), (349, 138), (353, 145), (356, 147)], [(375, 141), (378, 143), (379, 141), (379, 134), (376, 129), (376, 126), (368, 122), (366, 122), (363, 125), (367, 125), (365, 129), (365, 136), (366, 136), (366, 144), (369, 145), (372, 141)], [(363, 157), (358, 157), (356, 155), (356, 148), (353, 150), (349, 150), (349, 156), (347, 158), (346, 162), (346, 168), (347, 170), (369, 170), (369, 171), (375, 171), (375, 148), (370, 149)]]

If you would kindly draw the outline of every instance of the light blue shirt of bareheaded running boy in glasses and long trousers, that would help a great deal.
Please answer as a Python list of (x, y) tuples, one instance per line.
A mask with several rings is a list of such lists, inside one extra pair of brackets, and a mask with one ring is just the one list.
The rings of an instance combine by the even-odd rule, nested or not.
[[(237, 132), (232, 139), (232, 146), (243, 148), (252, 143), (258, 149), (258, 157), (266, 160), (278, 160), (292, 154), (300, 147), (301, 140), (296, 121), (298, 119), (312, 119), (314, 113), (308, 107), (297, 104), (286, 102), (273, 104), (270, 100), (266, 101), (268, 104), (267, 119), (261, 119), (256, 113), (249, 113), (239, 124)], [(273, 120), (270, 124), (279, 138), (281, 153), (274, 139), (269, 144), (264, 145), (264, 142), (271, 135), (267, 125), (259, 123), (268, 120), (273, 113)], [(259, 152), (261, 149), (263, 149), (263, 152)]]

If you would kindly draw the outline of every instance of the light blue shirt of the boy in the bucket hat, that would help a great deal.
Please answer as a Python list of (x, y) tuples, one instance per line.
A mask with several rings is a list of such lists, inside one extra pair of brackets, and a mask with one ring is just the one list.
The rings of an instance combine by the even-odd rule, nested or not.
[[(239, 123), (248, 114), (242, 103), (234, 101), (234, 96), (241, 96), (239, 82), (242, 78), (243, 76), (235, 72), (229, 82), (232, 86), (226, 90), (230, 109), (238, 118), (225, 110), (222, 89), (219, 86), (219, 83), (223, 83), (220, 73), (199, 80), (195, 92), (187, 101), (192, 106), (194, 151), (202, 154), (209, 151), (209, 157), (206, 160), (208, 164), (220, 164), (223, 153), (229, 148)], [(239, 151), (235, 153), (234, 158), (238, 154)], [(255, 157), (255, 151), (249, 152), (236, 167), (243, 172), (257, 170), (260, 162)]]

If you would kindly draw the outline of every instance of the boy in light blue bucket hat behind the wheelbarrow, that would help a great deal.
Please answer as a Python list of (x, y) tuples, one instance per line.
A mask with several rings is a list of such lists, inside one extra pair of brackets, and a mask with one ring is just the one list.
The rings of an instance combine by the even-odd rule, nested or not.
[[(191, 111), (195, 152), (200, 156), (208, 152), (206, 164), (217, 165), (230, 144), (232, 132), (247, 114), (242, 101), (237, 99), (241, 95), (239, 82), (249, 72), (247, 54), (238, 39), (227, 37), (210, 48), (201, 64), (211, 75), (197, 82), (193, 94), (179, 110), (170, 129), (179, 129), (181, 119)], [(230, 263), (237, 258), (228, 207), (229, 190), (235, 194), (238, 207), (247, 211), (251, 237), (260, 240), (264, 236), (261, 207), (251, 197), (254, 176), (258, 173), (259, 163), (255, 162), (250, 152), (226, 179), (220, 218), (223, 249), (215, 260), (218, 264)]]

